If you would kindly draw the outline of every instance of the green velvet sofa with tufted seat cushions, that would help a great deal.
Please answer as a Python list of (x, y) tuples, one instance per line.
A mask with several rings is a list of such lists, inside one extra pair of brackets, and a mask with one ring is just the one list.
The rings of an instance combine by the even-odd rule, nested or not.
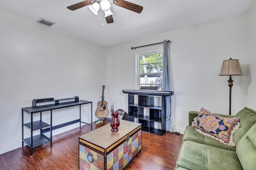
[[(216, 113), (214, 113), (216, 114)], [(189, 112), (189, 126), (183, 135), (175, 170), (256, 170), (256, 111), (244, 107), (236, 115), (241, 127), (233, 135), (236, 147), (202, 135), (191, 126), (198, 115)]]

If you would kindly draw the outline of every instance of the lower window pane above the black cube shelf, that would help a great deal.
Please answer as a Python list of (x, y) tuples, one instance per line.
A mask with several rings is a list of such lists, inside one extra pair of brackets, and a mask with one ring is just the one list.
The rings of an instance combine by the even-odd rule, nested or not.
[(163, 90), (162, 75), (140, 75), (140, 86), (158, 86), (158, 90)]

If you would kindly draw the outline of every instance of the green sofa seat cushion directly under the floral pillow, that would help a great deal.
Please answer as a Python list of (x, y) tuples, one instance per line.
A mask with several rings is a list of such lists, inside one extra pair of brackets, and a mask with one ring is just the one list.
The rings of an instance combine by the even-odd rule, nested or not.
[(202, 144), (206, 144), (206, 145), (211, 145), (214, 147), (236, 150), (236, 147), (231, 147), (231, 146), (225, 145), (224, 143), (221, 143), (215, 139), (212, 139), (208, 136), (198, 133), (198, 131), (196, 131), (196, 129), (192, 126), (186, 127), (186, 130), (184, 132), (182, 139), (184, 141), (194, 141), (194, 142), (198, 142), (198, 143), (202, 143)]

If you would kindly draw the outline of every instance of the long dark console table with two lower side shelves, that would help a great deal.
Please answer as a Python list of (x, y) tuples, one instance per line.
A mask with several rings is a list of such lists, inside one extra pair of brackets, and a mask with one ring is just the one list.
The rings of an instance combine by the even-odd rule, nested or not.
[[(59, 102), (62, 100), (72, 100), (74, 101), (69, 101), (69, 102)], [(38, 147), (40, 145), (43, 145), (45, 143), (50, 142), (50, 147), (52, 148), (52, 130), (65, 127), (68, 125), (72, 125), (74, 123), (80, 122), (85, 123), (87, 125), (91, 126), (92, 130), (92, 102), (90, 101), (85, 101), (85, 100), (79, 100), (78, 97), (75, 98), (65, 98), (65, 99), (58, 99), (58, 100), (52, 100), (48, 102), (55, 102), (54, 104), (46, 104), (46, 105), (41, 105), (41, 106), (36, 106), (35, 102), (33, 101), (32, 104), (34, 107), (23, 107), (22, 108), (22, 147), (24, 147), (24, 142), (30, 147), (30, 156), (33, 155), (33, 148)], [(42, 102), (40, 102), (42, 103)], [(91, 104), (91, 123), (86, 123), (81, 121), (81, 105), (84, 104)], [(69, 121), (60, 125), (52, 126), (52, 111), (56, 109), (61, 109), (65, 107), (73, 107), (73, 106), (79, 106), (80, 108), (80, 117), (79, 119)], [(30, 123), (24, 123), (24, 111), (30, 113)], [(42, 112), (43, 111), (50, 111), (50, 124), (45, 123), (42, 121)], [(40, 112), (40, 120), (39, 121), (33, 121), (33, 113), (39, 113)], [(24, 126), (30, 128), (31, 134), (30, 137), (24, 139)], [(33, 131), (40, 129), (40, 134), (33, 136)], [(47, 136), (45, 133), (50, 132), (50, 136)]]

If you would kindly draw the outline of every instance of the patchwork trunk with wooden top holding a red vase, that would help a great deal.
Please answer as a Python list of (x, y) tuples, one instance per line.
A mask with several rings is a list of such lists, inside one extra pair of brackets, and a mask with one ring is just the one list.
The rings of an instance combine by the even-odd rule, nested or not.
[(105, 125), (79, 137), (80, 170), (122, 170), (140, 152), (141, 124), (120, 120), (119, 131)]

